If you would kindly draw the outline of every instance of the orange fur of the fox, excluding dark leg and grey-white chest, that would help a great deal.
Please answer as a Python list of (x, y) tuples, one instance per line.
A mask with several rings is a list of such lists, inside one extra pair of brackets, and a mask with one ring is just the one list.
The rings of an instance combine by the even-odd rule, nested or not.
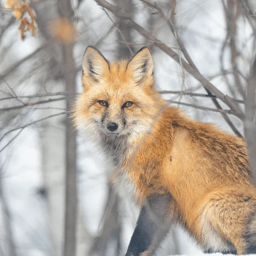
[[(92, 52), (97, 58), (97, 52)], [(244, 140), (213, 124), (191, 120), (174, 106), (166, 106), (153, 86), (150, 53), (145, 49), (142, 53), (130, 62), (107, 63), (98, 56), (99, 67), (103, 68), (97, 71), (100, 74), (96, 80), (88, 72), (82, 77), (83, 92), (75, 106), (76, 125), (86, 125), (87, 131), (93, 129), (93, 120), (99, 120), (105, 111), (98, 100), (109, 102), (109, 120), (117, 122), (121, 120), (122, 104), (134, 102), (123, 110), (127, 122), (132, 121), (130, 132), (123, 132), (127, 139), (125, 154), (113, 166), (113, 184), (125, 175), (140, 205), (151, 195), (171, 194), (174, 201), (170, 207), (175, 209), (177, 221), (202, 247), (208, 246), (208, 230), (223, 246), (231, 243), (239, 254), (244, 253), (243, 233), (256, 205)], [(143, 70), (135, 74), (140, 59), (148, 61), (145, 74)], [(133, 133), (136, 122), (140, 126)]]

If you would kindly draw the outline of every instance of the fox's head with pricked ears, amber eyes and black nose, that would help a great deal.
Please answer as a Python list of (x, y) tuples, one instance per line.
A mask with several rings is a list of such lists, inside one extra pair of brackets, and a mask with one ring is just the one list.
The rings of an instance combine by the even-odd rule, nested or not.
[(153, 57), (143, 47), (130, 60), (109, 62), (89, 46), (82, 60), (83, 92), (75, 104), (76, 126), (94, 137), (129, 136), (152, 129), (164, 101), (154, 88)]

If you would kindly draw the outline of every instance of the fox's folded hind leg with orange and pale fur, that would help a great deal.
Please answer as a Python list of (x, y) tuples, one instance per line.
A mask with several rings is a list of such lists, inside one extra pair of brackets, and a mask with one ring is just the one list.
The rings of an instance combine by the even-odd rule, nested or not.
[(234, 254), (256, 252), (255, 196), (238, 188), (207, 195), (201, 205), (201, 225), (208, 250)]

